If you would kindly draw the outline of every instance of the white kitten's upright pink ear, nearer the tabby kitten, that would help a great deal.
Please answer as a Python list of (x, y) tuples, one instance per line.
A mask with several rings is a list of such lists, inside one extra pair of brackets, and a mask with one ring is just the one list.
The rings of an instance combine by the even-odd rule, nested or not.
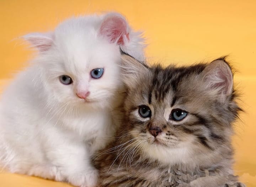
[(129, 26), (126, 19), (118, 13), (109, 13), (103, 19), (100, 35), (106, 36), (111, 43), (124, 45), (129, 42)]

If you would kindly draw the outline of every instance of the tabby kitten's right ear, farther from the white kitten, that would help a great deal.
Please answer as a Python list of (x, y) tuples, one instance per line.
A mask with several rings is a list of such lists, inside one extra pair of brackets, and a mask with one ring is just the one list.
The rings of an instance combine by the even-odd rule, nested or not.
[(224, 102), (226, 96), (233, 92), (233, 73), (229, 64), (223, 59), (212, 61), (204, 70), (207, 88), (218, 94)]

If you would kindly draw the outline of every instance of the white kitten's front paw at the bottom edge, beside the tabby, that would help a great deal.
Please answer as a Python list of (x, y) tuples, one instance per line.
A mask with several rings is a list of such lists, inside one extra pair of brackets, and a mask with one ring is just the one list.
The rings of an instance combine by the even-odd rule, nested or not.
[(98, 171), (95, 169), (88, 170), (79, 175), (70, 176), (68, 181), (74, 186), (95, 187), (98, 180)]

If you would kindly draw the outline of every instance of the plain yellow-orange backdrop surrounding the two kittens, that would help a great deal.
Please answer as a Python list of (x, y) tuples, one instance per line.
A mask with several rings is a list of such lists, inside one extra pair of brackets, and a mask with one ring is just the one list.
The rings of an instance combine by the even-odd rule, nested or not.
[[(192, 64), (229, 55), (238, 70), (235, 83), (245, 109), (236, 123), (235, 172), (247, 186), (256, 186), (255, 0), (0, 0), (0, 86), (33, 56), (19, 36), (53, 30), (70, 16), (105, 11), (121, 12), (134, 29), (144, 30), (147, 56), (165, 64)], [(2, 172), (0, 186), (69, 185)]]

